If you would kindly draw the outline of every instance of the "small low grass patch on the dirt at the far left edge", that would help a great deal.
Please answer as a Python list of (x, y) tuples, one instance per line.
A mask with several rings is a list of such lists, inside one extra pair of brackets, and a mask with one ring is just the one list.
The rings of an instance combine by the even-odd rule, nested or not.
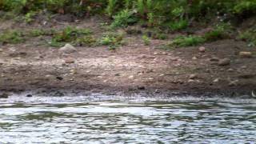
[(17, 44), (25, 42), (25, 38), (23, 38), (22, 32), (18, 30), (6, 30), (2, 34), (0, 34), (0, 42), (2, 42), (2, 44)]

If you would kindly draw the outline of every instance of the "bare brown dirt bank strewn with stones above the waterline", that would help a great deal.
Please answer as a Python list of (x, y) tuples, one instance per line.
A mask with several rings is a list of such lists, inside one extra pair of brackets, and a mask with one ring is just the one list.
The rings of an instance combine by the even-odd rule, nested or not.
[[(53, 21), (54, 22), (54, 21)], [(90, 28), (102, 34), (102, 20), (90, 18), (74, 22), (34, 22), (30, 25), (2, 22), (6, 28), (61, 29), (64, 26)], [(226, 39), (199, 46), (160, 50), (170, 41), (152, 40), (144, 46), (141, 35), (126, 35), (126, 45), (110, 51), (107, 46), (76, 47), (77, 52), (61, 54), (58, 48), (41, 45), (47, 38), (30, 38), (22, 44), (0, 46), (0, 90), (84, 90), (107, 94), (250, 94), (256, 89), (256, 57), (241, 58), (251, 51), (246, 42)], [(170, 37), (172, 37), (170, 35)], [(65, 62), (66, 58), (74, 62)], [(210, 58), (229, 58), (230, 64), (218, 66)]]

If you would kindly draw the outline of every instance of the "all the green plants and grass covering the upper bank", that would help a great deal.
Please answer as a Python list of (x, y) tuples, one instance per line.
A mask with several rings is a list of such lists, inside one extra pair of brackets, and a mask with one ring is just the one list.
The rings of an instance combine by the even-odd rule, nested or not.
[[(1, 0), (0, 11), (3, 12), (0, 18), (14, 18), (28, 24), (34, 22), (34, 18), (40, 14), (73, 14), (81, 18), (100, 14), (111, 20), (110, 30), (138, 24), (149, 30), (161, 31), (142, 33), (145, 44), (150, 42), (150, 38), (166, 39), (169, 32), (179, 31), (184, 34), (194, 23), (216, 25), (202, 36), (174, 38), (170, 45), (180, 47), (230, 38), (233, 29), (231, 25), (223, 23), (242, 22), (252, 17), (256, 14), (256, 0)], [(66, 42), (78, 46), (120, 46), (123, 42), (122, 38), (113, 34), (105, 34), (99, 39), (91, 34), (87, 29), (66, 27), (60, 32), (31, 30), (25, 35), (48, 35), (51, 37), (50, 46), (62, 46)], [(23, 42), (23, 35), (17, 31), (6, 32), (1, 34), (0, 42)], [(240, 38), (255, 45), (252, 29), (242, 31)]]

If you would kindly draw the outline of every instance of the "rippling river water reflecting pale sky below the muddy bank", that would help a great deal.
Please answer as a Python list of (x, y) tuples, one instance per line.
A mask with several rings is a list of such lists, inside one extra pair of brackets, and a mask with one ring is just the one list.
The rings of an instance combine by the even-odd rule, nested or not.
[(0, 143), (254, 143), (253, 99), (0, 99)]

